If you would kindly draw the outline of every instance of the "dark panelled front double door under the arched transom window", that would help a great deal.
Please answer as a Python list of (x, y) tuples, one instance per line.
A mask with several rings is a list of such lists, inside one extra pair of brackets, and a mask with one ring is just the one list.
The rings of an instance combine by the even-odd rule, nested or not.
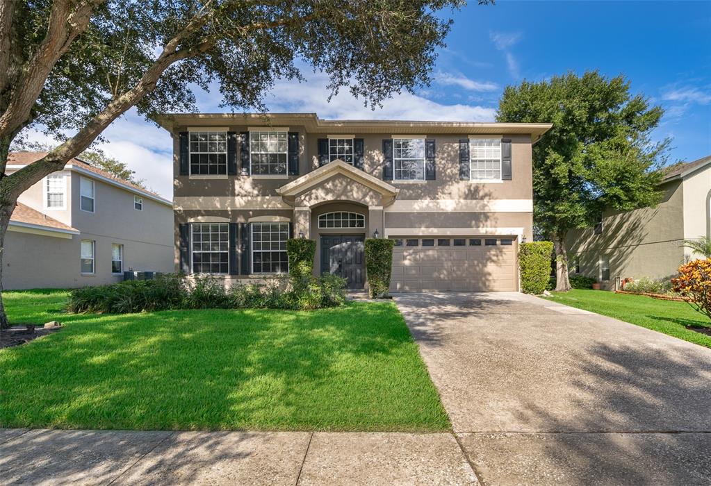
[(346, 279), (346, 288), (363, 288), (363, 234), (321, 235), (321, 275), (333, 274)]

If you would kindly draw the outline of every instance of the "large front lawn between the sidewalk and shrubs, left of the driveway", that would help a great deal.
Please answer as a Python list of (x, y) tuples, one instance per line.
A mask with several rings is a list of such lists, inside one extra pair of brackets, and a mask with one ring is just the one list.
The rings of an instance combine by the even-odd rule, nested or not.
[(4, 293), (58, 333), (0, 350), (0, 426), (449, 430), (392, 303), (321, 311), (64, 314), (67, 293)]

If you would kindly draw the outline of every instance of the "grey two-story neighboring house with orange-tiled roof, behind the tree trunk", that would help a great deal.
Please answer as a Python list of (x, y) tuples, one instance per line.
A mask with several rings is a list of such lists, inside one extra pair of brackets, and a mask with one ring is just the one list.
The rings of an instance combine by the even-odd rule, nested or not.
[[(45, 153), (11, 153), (12, 173)], [(72, 288), (173, 271), (172, 204), (77, 158), (26, 190), (3, 249), (3, 286)]]

